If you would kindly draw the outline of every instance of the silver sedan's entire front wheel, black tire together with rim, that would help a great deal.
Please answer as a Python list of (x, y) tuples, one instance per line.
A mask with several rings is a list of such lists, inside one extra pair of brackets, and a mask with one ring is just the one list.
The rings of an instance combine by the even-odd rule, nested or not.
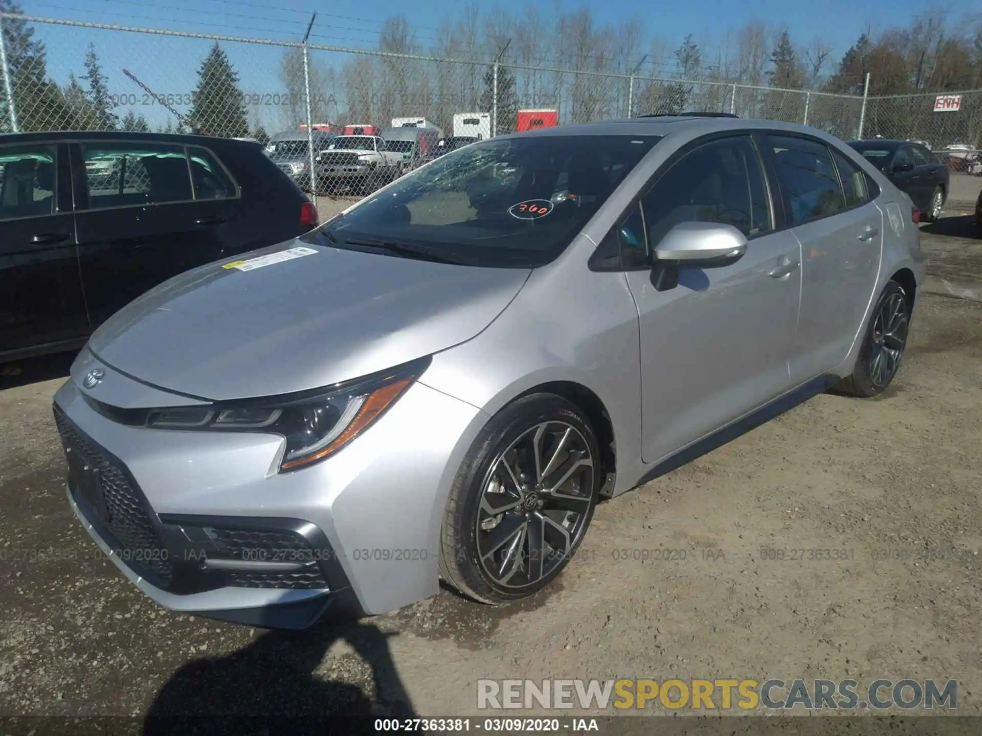
[[(579, 449), (568, 451), (562, 456), (557, 450), (555, 454), (566, 459), (560, 461), (552, 472), (544, 475), (546, 480), (554, 482), (563, 477), (567, 466), (578, 465), (571, 480), (567, 481), (571, 483), (575, 477), (575, 493), (566, 488), (566, 484), (558, 484), (564, 486), (564, 493), (569, 494), (560, 498), (549, 495), (545, 490), (538, 490), (539, 496), (536, 496), (537, 486), (524, 492), (518, 490), (516, 484), (509, 479), (518, 478), (519, 482), (524, 480), (522, 467), (528, 464), (526, 459), (531, 447), (526, 447), (531, 442), (528, 439), (529, 433), (534, 438), (536, 429), (545, 427), (539, 456), (551, 457), (552, 450), (556, 448), (556, 441), (551, 439), (553, 430), (557, 433), (566, 432), (564, 426), (572, 428), (573, 432), (567, 433), (566, 444), (560, 447), (582, 447), (590, 459), (588, 472), (583, 463), (584, 455)], [(503, 457), (507, 458), (508, 463), (504, 471), (504, 466), (499, 462)], [(474, 440), (447, 500), (440, 534), (440, 573), (444, 581), (474, 601), (492, 605), (528, 598), (549, 585), (573, 557), (593, 518), (600, 492), (599, 458), (600, 450), (593, 428), (571, 401), (555, 394), (530, 394), (502, 409)], [(546, 463), (542, 469), (549, 471), (553, 463), (543, 459), (538, 467), (542, 467), (542, 462)], [(514, 471), (509, 469), (512, 465), (516, 466)], [(517, 507), (499, 514), (489, 514), (488, 508), (497, 510), (506, 507), (506, 502), (491, 505), (487, 501), (482, 505), (482, 500), (491, 492), (491, 488), (501, 489), (498, 493), (502, 494), (507, 503), (515, 503), (515, 499), (520, 499)], [(565, 528), (570, 521), (570, 514), (574, 512), (553, 506), (569, 504), (569, 499), (573, 498), (575, 505), (582, 507), (583, 511), (577, 514), (574, 525), (567, 529), (564, 539), (560, 526)], [(563, 514), (565, 517), (558, 523), (556, 517)], [(497, 522), (493, 521), (495, 518), (498, 519)], [(482, 522), (491, 522), (495, 526), (478, 529)], [(516, 531), (510, 533), (516, 524)], [(494, 536), (495, 533), (497, 536)], [(501, 537), (506, 541), (496, 548), (496, 539)], [(539, 539), (545, 542), (536, 545), (535, 541)], [(512, 547), (509, 540), (518, 541), (521, 548), (519, 554), (512, 557), (504, 553), (499, 555), (499, 551)], [(558, 547), (553, 547), (557, 540), (560, 541), (559, 546), (566, 547), (565, 550), (559, 551)], [(539, 548), (539, 552), (529, 552), (535, 546)], [(517, 560), (519, 555), (520, 563), (509, 561)], [(487, 560), (487, 563), (482, 562), (482, 559)], [(512, 568), (511, 574), (505, 575), (504, 583), (501, 575), (495, 577), (488, 570), (488, 567), (497, 566), (498, 562), (501, 563), (502, 570), (506, 565)], [(526, 569), (519, 569), (525, 566)]]

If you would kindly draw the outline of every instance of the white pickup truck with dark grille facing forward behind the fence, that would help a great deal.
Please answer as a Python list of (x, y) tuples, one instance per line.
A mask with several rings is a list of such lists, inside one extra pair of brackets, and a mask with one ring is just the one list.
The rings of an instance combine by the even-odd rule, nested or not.
[(317, 157), (317, 180), (327, 192), (368, 194), (403, 174), (403, 154), (378, 135), (338, 135)]

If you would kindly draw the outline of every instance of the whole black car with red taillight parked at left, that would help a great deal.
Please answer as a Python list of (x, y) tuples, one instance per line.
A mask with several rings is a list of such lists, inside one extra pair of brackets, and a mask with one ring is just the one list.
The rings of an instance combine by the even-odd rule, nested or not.
[(317, 210), (258, 143), (0, 135), (0, 362), (81, 346), (170, 277), (316, 225)]

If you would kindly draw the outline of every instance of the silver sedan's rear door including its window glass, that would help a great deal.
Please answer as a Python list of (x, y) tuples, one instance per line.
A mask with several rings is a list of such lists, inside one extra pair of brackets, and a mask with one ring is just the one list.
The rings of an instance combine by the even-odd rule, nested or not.
[(797, 385), (846, 359), (876, 286), (883, 213), (868, 196), (865, 175), (824, 141), (767, 138), (791, 232), (801, 243), (801, 308), (790, 362)]

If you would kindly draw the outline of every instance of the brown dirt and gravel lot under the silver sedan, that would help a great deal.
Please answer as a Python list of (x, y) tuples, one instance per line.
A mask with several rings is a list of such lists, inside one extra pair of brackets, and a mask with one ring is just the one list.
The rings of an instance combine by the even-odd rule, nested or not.
[(500, 609), (444, 592), (298, 635), (158, 607), (64, 499), (50, 401), (68, 360), (17, 366), (0, 378), (0, 715), (324, 713), (404, 693), (446, 715), (477, 712), (478, 678), (772, 676), (956, 679), (959, 712), (982, 714), (982, 303), (940, 286), (982, 287), (968, 225), (924, 231), (935, 293), (888, 394), (821, 395), (603, 503), (558, 583)]

